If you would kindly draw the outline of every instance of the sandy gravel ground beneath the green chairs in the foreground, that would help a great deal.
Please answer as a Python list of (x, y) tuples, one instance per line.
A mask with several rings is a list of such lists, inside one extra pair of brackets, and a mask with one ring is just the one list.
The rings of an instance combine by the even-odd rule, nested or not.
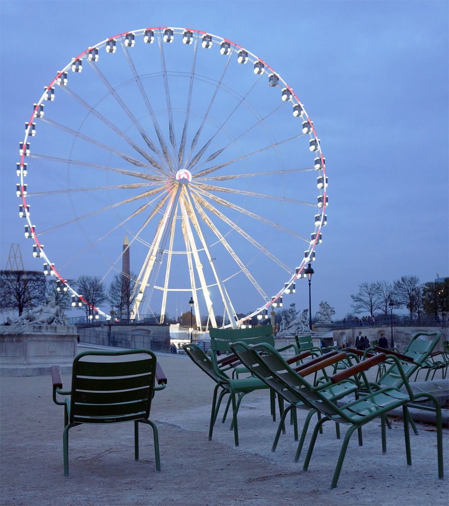
[[(411, 435), (413, 466), (407, 467), (401, 420), (387, 431), (382, 454), (380, 424), (364, 429), (364, 446), (350, 441), (338, 487), (330, 489), (341, 441), (325, 424), (309, 470), (293, 461), (292, 427), (271, 452), (277, 425), (266, 392), (244, 398), (240, 446), (229, 423), (217, 423), (207, 440), (214, 384), (187, 357), (161, 355), (167, 388), (157, 392), (152, 419), (159, 428), (162, 471), (156, 472), (152, 432), (141, 426), (141, 460), (133, 458), (133, 426), (70, 430), (70, 478), (64, 478), (63, 408), (52, 401), (51, 378), (2, 377), (1, 504), (4, 506), (180, 505), (433, 506), (449, 502), (449, 437), (444, 430), (445, 477), (438, 479), (436, 433), (418, 425)], [(69, 375), (63, 375), (69, 388)], [(304, 412), (299, 414), (301, 428)], [(344, 434), (345, 429), (342, 429)], [(306, 440), (305, 450), (308, 445)]]

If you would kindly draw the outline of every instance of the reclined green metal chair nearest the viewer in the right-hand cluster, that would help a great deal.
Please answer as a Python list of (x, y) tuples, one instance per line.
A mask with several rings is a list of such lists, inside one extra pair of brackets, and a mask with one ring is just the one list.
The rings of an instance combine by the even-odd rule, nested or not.
[[(256, 351), (256, 347), (254, 350)], [(418, 393), (414, 394), (410, 388), (408, 378), (402, 370), (399, 359), (393, 355), (388, 355), (388, 359), (395, 363), (397, 372), (401, 376), (402, 384), (406, 387), (407, 392), (403, 393), (394, 387), (385, 387), (376, 391), (371, 389), (365, 371), (387, 359), (387, 355), (380, 353), (365, 361), (362, 361), (346, 370), (339, 372), (330, 378), (327, 385), (313, 386), (304, 377), (313, 372), (313, 367), (309, 367), (306, 371), (294, 371), (282, 358), (282, 356), (272, 347), (265, 347), (267, 354), (253, 355), (253, 358), (263, 365), (267, 370), (270, 370), (273, 377), (276, 377), (284, 387), (292, 394), (297, 396), (297, 400), (309, 404), (313, 408), (322, 413), (323, 418), (318, 421), (313, 430), (310, 440), (307, 456), (304, 461), (303, 470), (307, 471), (310, 458), (313, 452), (313, 447), (318, 436), (318, 432), (325, 421), (332, 420), (335, 423), (349, 425), (349, 429), (344, 437), (343, 444), (340, 450), (337, 466), (332, 479), (331, 488), (337, 486), (338, 478), (340, 476), (341, 467), (346, 454), (349, 439), (355, 430), (360, 430), (365, 424), (370, 421), (381, 418), (381, 436), (382, 436), (382, 451), (386, 451), (386, 430), (385, 430), (385, 415), (388, 411), (397, 407), (402, 407), (403, 410), (403, 423), (404, 434), (406, 443), (407, 464), (412, 464), (411, 449), (410, 449), (410, 435), (408, 425), (408, 408), (416, 407), (424, 410), (433, 409), (428, 406), (418, 404), (416, 401), (421, 398), (431, 400), (435, 405), (436, 411), (436, 430), (437, 430), (437, 457), (438, 457), (438, 476), (443, 477), (443, 452), (442, 452), (442, 426), (441, 426), (441, 407), (438, 400), (431, 394)], [(345, 355), (345, 354), (342, 354)], [(344, 405), (338, 405), (335, 399), (326, 395), (328, 388), (341, 385), (342, 382), (347, 381), (352, 377), (355, 383), (360, 382), (363, 378), (364, 387), (368, 390), (368, 394), (362, 398), (355, 399)], [(341, 402), (341, 401), (340, 401)]]

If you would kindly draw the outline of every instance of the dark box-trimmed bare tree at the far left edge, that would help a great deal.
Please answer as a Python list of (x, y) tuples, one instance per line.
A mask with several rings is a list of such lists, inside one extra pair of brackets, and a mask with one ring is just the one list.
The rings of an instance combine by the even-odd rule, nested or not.
[(0, 307), (19, 312), (41, 304), (46, 296), (40, 271), (0, 271)]

